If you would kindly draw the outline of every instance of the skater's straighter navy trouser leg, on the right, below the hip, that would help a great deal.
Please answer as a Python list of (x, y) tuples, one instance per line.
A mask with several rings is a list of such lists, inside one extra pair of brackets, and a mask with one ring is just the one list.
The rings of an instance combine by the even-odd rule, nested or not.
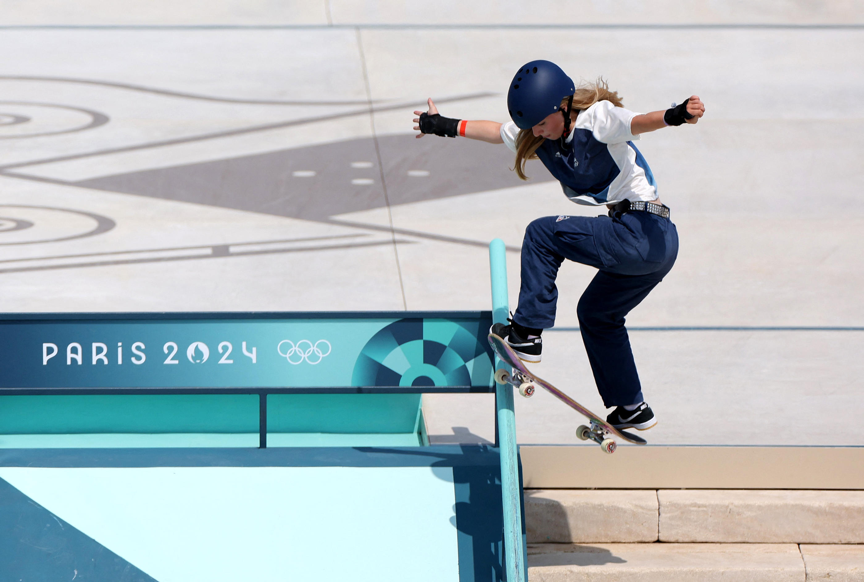
[(607, 408), (642, 402), (625, 316), (660, 282), (665, 272), (616, 275), (598, 272), (579, 299), (576, 314), (597, 390)]

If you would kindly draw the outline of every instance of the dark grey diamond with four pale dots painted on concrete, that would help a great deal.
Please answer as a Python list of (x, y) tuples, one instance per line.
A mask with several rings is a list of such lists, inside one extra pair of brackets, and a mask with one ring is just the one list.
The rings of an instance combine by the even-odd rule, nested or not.
[[(391, 204), (525, 184), (510, 170), (514, 156), (502, 145), (434, 135), (422, 140), (414, 135), (385, 135), (378, 138), (378, 147), (386, 200)], [(353, 168), (355, 161), (372, 162), (372, 167)], [(313, 170), (316, 175), (292, 175), (302, 170)], [(410, 177), (409, 170), (426, 170), (429, 176)], [(527, 172), (533, 182), (552, 179), (538, 161), (530, 162)], [(354, 178), (374, 182), (352, 185)], [(386, 205), (372, 138), (130, 172), (77, 185), (310, 220)]]

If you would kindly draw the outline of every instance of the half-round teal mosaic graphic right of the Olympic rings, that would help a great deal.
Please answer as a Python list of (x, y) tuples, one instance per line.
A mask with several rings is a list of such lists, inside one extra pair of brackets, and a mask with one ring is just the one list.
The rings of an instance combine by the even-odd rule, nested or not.
[(489, 388), (492, 350), (482, 326), (447, 319), (392, 322), (366, 342), (352, 385)]

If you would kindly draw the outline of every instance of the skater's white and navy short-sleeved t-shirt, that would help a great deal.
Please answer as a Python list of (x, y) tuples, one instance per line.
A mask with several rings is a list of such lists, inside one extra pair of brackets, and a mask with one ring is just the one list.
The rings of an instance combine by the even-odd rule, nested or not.
[[(658, 199), (651, 168), (632, 141), (633, 117), (638, 113), (598, 101), (580, 111), (570, 135), (561, 141), (546, 140), (537, 156), (557, 178), (564, 193), (575, 203), (599, 206), (621, 200)], [(516, 153), (519, 128), (513, 122), (501, 126), (501, 139)]]

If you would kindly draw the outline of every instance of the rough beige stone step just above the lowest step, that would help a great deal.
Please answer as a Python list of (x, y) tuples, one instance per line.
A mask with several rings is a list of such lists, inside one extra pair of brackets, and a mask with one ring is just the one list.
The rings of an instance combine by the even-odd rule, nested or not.
[(864, 491), (525, 490), (530, 543), (864, 543)]

